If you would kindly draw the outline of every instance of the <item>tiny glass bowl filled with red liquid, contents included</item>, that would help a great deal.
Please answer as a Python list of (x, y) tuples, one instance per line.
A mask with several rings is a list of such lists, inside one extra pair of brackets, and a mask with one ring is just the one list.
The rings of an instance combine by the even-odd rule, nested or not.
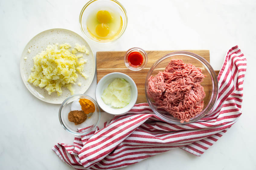
[(130, 48), (124, 56), (126, 67), (132, 71), (142, 70), (147, 65), (147, 62), (148, 55), (146, 51), (138, 47)]

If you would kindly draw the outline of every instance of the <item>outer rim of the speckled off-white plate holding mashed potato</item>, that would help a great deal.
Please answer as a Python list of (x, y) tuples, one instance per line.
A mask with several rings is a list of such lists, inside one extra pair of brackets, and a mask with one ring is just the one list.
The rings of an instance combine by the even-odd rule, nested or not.
[[(91, 66), (92, 67), (92, 75), (91, 75), (91, 80), (88, 82), (88, 86), (87, 87), (85, 87), (84, 89), (83, 89), (83, 91), (75, 91), (75, 93), (85, 93), (86, 91), (87, 91), (87, 89), (90, 87), (90, 85), (91, 85), (91, 83), (92, 83), (92, 81), (93, 81), (93, 79), (94, 79), (94, 75), (95, 75), (95, 69), (96, 69), (96, 62), (95, 62), (95, 58), (94, 58), (94, 54), (93, 54), (93, 51), (91, 50), (91, 47), (89, 46), (89, 44), (88, 44), (88, 42), (82, 37), (82, 36), (80, 36), (79, 34), (77, 34), (76, 32), (73, 32), (73, 31), (71, 31), (71, 30), (69, 30), (69, 29), (63, 29), (63, 28), (53, 28), (53, 29), (47, 29), (47, 30), (45, 30), (45, 31), (42, 31), (42, 32), (40, 32), (40, 33), (38, 33), (37, 35), (35, 35), (32, 39), (30, 39), (30, 41), (24, 46), (24, 50), (22, 51), (22, 53), (21, 53), (21, 58), (20, 58), (20, 73), (21, 73), (21, 79), (22, 79), (22, 81), (23, 81), (23, 83), (24, 83), (24, 85), (26, 86), (26, 88), (28, 89), (28, 91), (30, 91), (30, 93), (31, 94), (33, 94), (35, 97), (37, 97), (38, 99), (40, 99), (40, 100), (42, 100), (42, 101), (44, 101), (44, 102), (46, 102), (46, 103), (51, 103), (51, 104), (62, 104), (62, 102), (66, 99), (66, 97), (62, 97), (62, 98), (64, 98), (64, 99), (62, 99), (62, 98), (57, 98), (57, 100), (56, 101), (53, 101), (53, 100), (51, 100), (51, 101), (47, 101), (47, 100), (45, 100), (43, 97), (40, 97), (40, 96), (42, 96), (41, 94), (39, 94), (36, 90), (35, 90), (35, 88), (39, 88), (39, 87), (35, 87), (34, 85), (31, 85), (31, 87), (33, 87), (33, 90), (30, 88), (30, 87), (28, 87), (28, 83), (27, 83), (27, 80), (24, 78), (24, 75), (22, 74), (22, 66), (23, 66), (23, 60), (24, 60), (24, 56), (22, 55), (22, 54), (24, 54), (24, 52), (25, 51), (27, 51), (27, 46), (32, 42), (32, 41), (34, 41), (34, 39), (36, 39), (37, 38), (37, 36), (39, 36), (40, 34), (42, 34), (42, 33), (44, 33), (44, 32), (50, 32), (51, 30), (54, 30), (54, 31), (67, 31), (67, 32), (70, 32), (71, 34), (74, 34), (74, 35), (76, 35), (78, 38), (79, 38), (79, 40), (82, 40), (84, 43), (85, 43), (85, 45), (86, 45), (86, 48), (89, 50), (89, 52), (90, 52), (90, 54), (93, 56), (93, 60), (92, 61), (94, 61), (93, 62), (93, 65)], [(48, 44), (46, 44), (46, 45), (48, 45)], [(46, 48), (46, 47), (44, 47), (44, 48)], [(38, 51), (38, 52), (40, 52), (40, 51)], [(65, 89), (65, 90), (67, 90), (67, 89)], [(64, 91), (64, 90), (63, 90)], [(50, 95), (49, 95), (50, 96)], [(71, 94), (70, 94), (70, 96), (71, 96)], [(61, 97), (61, 96), (59, 96), (59, 97)]]

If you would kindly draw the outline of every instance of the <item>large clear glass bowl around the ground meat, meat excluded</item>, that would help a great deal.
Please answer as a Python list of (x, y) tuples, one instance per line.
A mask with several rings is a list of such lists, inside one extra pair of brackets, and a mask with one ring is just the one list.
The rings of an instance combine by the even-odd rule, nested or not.
[[(194, 116), (194, 118), (191, 118), (189, 122), (181, 123), (179, 119), (174, 118), (173, 116), (171, 116), (170, 113), (163, 111), (163, 109), (158, 109), (158, 104), (154, 103), (154, 100), (151, 97), (149, 97), (147, 94), (149, 77), (151, 75), (152, 76), (157, 75), (159, 71), (164, 71), (165, 67), (168, 65), (168, 63), (172, 59), (182, 59), (184, 63), (191, 63), (194, 66), (199, 67), (202, 70), (202, 73), (206, 76), (203, 79), (203, 82), (200, 83), (204, 87), (204, 91), (206, 93), (206, 97), (203, 99), (204, 100), (203, 111), (200, 114)], [(145, 92), (146, 92), (146, 98), (149, 103), (149, 106), (151, 107), (153, 112), (156, 115), (158, 115), (161, 119), (165, 120), (166, 122), (174, 123), (174, 124), (188, 124), (201, 119), (203, 116), (205, 116), (207, 113), (209, 113), (212, 110), (218, 96), (218, 81), (212, 66), (203, 57), (187, 51), (177, 51), (177, 52), (167, 54), (164, 57), (160, 58), (150, 68), (146, 77)], [(210, 94), (210, 95), (207, 95), (207, 94)]]

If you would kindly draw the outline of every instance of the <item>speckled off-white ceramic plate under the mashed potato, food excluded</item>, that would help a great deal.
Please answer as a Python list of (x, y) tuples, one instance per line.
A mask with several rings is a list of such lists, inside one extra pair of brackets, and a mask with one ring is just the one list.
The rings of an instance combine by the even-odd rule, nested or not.
[[(80, 74), (78, 74), (76, 85), (72, 85), (75, 90), (75, 94), (85, 93), (85, 91), (91, 85), (95, 73), (95, 59), (92, 50), (85, 39), (83, 39), (77, 33), (67, 29), (56, 28), (43, 31), (34, 36), (34, 38), (27, 43), (21, 54), (20, 61), (21, 77), (25, 86), (35, 97), (39, 98), (40, 100), (52, 104), (61, 104), (67, 97), (71, 95), (67, 88), (62, 87), (63, 92), (61, 96), (57, 96), (56, 92), (49, 95), (48, 91), (46, 91), (44, 88), (36, 87), (27, 82), (27, 79), (31, 73), (30, 68), (34, 66), (33, 57), (39, 52), (45, 50), (47, 45), (52, 45), (55, 43), (69, 43), (71, 45), (70, 49), (74, 48), (75, 44), (78, 43), (80, 45), (85, 45), (90, 51), (89, 55), (82, 53), (83, 58), (87, 59), (87, 63), (85, 63), (85, 70), (83, 72), (88, 76), (88, 79), (85, 80)], [(30, 53), (28, 53), (28, 49), (31, 50)], [(24, 60), (24, 57), (27, 57), (27, 60)], [(78, 86), (78, 83), (81, 83), (82, 85)]]

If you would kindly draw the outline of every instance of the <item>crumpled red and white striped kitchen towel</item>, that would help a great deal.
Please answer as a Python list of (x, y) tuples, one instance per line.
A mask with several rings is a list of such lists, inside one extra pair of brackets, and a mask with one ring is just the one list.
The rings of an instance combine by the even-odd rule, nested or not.
[(76, 136), (73, 145), (58, 143), (52, 150), (75, 169), (121, 168), (175, 148), (200, 156), (242, 114), (245, 72), (246, 58), (235, 46), (227, 52), (219, 72), (217, 102), (198, 122), (166, 123), (147, 103), (136, 104), (130, 114), (115, 116), (103, 129)]

